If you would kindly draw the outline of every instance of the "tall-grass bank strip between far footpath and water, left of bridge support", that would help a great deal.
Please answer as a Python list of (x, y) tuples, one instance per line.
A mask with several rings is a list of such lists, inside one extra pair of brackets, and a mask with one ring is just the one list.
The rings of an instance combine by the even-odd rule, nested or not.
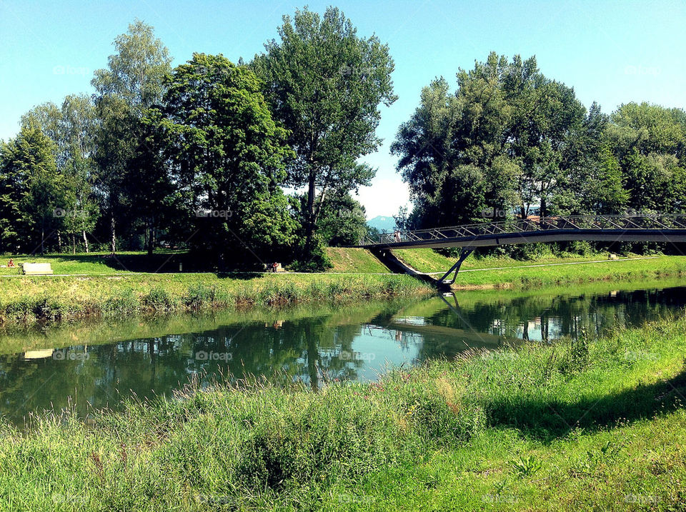
[(0, 323), (87, 316), (202, 311), (294, 303), (418, 296), (432, 290), (409, 276), (122, 274), (0, 280)]

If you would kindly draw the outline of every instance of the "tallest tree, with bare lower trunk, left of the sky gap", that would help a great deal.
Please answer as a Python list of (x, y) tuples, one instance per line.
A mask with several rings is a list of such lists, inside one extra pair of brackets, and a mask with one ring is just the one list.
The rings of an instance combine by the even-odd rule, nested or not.
[(374, 170), (359, 164), (380, 139), (379, 104), (389, 106), (394, 65), (377, 36), (362, 38), (352, 22), (329, 7), (324, 16), (306, 9), (284, 16), (280, 41), (265, 45), (252, 66), (264, 81), (274, 116), (289, 130), (296, 158), (288, 183), (304, 187), (305, 247), (328, 194), (341, 195), (369, 184)]

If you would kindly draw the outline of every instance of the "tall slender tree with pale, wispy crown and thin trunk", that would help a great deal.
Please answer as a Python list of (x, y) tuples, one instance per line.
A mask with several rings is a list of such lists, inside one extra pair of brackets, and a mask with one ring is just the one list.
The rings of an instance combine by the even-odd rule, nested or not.
[[(131, 169), (131, 161), (140, 157), (145, 148), (141, 119), (146, 109), (161, 101), (164, 78), (172, 61), (169, 51), (155, 38), (154, 29), (140, 20), (129, 25), (126, 34), (116, 37), (114, 47), (116, 53), (109, 56), (107, 69), (97, 70), (91, 81), (98, 93), (96, 106), (100, 120), (96, 144), (97, 186), (104, 209), (109, 212), (113, 254), (116, 216), (129, 201), (130, 187), (125, 189), (124, 185), (137, 183), (140, 172), (140, 168)], [(146, 226), (151, 229), (149, 223)]]

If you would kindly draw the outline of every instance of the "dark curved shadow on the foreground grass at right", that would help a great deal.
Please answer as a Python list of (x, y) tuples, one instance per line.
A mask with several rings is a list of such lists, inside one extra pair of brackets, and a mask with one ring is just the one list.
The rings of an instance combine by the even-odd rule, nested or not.
[(492, 426), (520, 429), (543, 441), (564, 437), (573, 428), (599, 430), (621, 422), (652, 418), (686, 404), (686, 369), (674, 378), (639, 385), (599, 399), (575, 402), (550, 399), (491, 401), (485, 404)]

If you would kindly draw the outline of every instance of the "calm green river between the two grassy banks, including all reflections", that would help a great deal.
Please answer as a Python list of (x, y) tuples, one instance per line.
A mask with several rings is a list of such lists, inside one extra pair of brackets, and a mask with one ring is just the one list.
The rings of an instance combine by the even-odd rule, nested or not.
[[(686, 287), (612, 285), (552, 293), (462, 292), (320, 310), (249, 311), (60, 326), (0, 336), (0, 415), (71, 404), (81, 415), (124, 396), (171, 395), (198, 378), (253, 373), (369, 380), (387, 365), (452, 358), (467, 348), (552, 343), (682, 314)], [(619, 285), (615, 285), (619, 286)]]

